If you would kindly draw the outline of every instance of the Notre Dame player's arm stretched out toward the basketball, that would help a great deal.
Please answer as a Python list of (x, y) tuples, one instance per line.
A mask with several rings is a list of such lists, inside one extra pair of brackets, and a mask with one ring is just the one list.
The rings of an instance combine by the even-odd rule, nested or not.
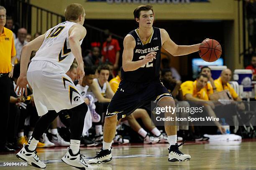
[(177, 45), (171, 40), (169, 34), (164, 29), (160, 29), (162, 37), (162, 47), (173, 56), (187, 55), (199, 50), (200, 44), (195, 45)]

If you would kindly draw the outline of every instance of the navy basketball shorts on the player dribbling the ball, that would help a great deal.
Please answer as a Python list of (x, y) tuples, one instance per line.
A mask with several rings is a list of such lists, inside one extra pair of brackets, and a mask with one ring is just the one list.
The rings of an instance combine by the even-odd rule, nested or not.
[(162, 97), (172, 97), (160, 80), (146, 83), (130, 82), (122, 80), (115, 92), (106, 117), (117, 115), (117, 120), (134, 112), (137, 108), (151, 110), (151, 101), (158, 102)]

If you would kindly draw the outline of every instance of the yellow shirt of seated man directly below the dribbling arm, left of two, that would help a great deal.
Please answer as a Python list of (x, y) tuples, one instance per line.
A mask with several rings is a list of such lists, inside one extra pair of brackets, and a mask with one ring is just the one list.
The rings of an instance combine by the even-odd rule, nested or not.
[(180, 86), (182, 89), (183, 96), (185, 97), (186, 94), (192, 94), (193, 97), (197, 97), (202, 100), (209, 100), (206, 88), (204, 87), (200, 91), (197, 91), (196, 85), (197, 85), (197, 80), (195, 80), (194, 82), (192, 81), (183, 82)]

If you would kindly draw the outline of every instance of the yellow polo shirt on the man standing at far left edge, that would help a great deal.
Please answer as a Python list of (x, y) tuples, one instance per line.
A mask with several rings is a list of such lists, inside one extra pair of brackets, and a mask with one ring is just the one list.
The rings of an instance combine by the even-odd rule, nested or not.
[(12, 70), (11, 57), (15, 55), (13, 32), (4, 27), (3, 33), (0, 33), (0, 73)]

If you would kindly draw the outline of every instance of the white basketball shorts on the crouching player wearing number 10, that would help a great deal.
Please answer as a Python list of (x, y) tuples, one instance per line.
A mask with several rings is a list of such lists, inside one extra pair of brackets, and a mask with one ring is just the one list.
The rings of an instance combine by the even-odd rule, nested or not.
[(27, 79), (33, 89), (39, 116), (45, 115), (48, 110), (59, 112), (84, 103), (71, 78), (51, 62), (31, 62)]

